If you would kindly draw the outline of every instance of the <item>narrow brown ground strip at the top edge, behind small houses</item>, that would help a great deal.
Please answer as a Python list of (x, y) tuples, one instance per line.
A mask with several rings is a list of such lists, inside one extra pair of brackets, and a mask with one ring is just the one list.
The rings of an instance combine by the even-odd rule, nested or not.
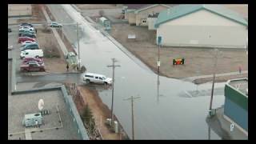
[(76, 5), (80, 10), (115, 9), (115, 4), (80, 4)]

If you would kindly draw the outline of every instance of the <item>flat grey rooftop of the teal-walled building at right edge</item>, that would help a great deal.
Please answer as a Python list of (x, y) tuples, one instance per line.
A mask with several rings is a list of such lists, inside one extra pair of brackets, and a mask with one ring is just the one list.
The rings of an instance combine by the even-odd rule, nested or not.
[(228, 82), (230, 86), (234, 87), (234, 89), (242, 92), (242, 94), (246, 95), (248, 90), (248, 79), (247, 78), (238, 78), (238, 79), (232, 79)]

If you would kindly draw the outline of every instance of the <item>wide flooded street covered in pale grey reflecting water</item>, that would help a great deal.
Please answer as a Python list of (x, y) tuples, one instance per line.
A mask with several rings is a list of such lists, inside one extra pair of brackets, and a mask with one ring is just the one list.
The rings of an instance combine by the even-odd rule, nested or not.
[[(116, 64), (121, 65), (115, 69), (114, 114), (130, 137), (131, 107), (130, 102), (124, 99), (139, 96), (141, 98), (134, 102), (135, 139), (208, 139), (206, 116), (210, 105), (211, 83), (198, 86), (196, 92), (197, 86), (191, 82), (160, 77), (158, 94), (157, 74), (134, 62), (86, 22), (72, 6), (62, 6), (64, 9), (60, 5), (50, 5), (50, 10), (57, 20), (64, 13), (54, 11), (66, 10), (74, 22), (81, 24), (79, 27), (84, 34), (80, 39), (80, 55), (82, 65), (86, 66), (88, 72), (112, 77), (112, 69), (107, 67), (112, 63), (111, 58), (116, 58)], [(69, 37), (76, 37), (74, 30), (70, 30), (69, 34)], [(76, 42), (74, 40), (71, 43)], [(62, 78), (66, 77), (60, 77)], [(224, 103), (224, 85), (225, 83), (215, 85), (213, 108)], [(110, 107), (111, 90), (100, 90), (99, 95)], [(220, 139), (214, 131), (210, 132), (210, 138)]]

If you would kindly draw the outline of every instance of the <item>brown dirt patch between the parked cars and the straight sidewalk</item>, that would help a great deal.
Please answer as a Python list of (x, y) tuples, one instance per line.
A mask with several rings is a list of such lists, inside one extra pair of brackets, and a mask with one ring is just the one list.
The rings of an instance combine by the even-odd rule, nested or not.
[(46, 71), (66, 72), (66, 61), (52, 31), (46, 33), (43, 29), (38, 29), (37, 39), (42, 50), (50, 50), (52, 54), (60, 56), (60, 58), (44, 58)]

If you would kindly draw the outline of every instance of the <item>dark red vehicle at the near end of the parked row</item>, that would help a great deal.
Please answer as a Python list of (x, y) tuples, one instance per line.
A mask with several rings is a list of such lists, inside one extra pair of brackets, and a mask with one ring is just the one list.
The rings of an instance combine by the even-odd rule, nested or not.
[(20, 66), (22, 72), (38, 72), (38, 71), (46, 71), (44, 64), (39, 64), (36, 61), (30, 61), (28, 64), (22, 64)]

